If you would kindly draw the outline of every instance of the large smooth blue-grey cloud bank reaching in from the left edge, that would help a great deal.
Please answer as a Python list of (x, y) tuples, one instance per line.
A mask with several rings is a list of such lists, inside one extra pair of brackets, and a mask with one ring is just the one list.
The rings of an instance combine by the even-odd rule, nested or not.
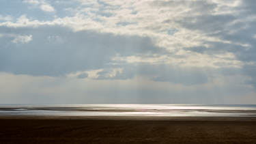
[[(0, 39), (5, 43), (0, 49), (2, 72), (33, 76), (61, 76), (71, 72), (103, 68), (102, 72), (98, 72), (98, 79), (147, 76), (152, 81), (169, 81), (183, 85), (195, 85), (208, 81), (207, 74), (199, 70), (150, 64), (111, 64), (112, 57), (116, 55), (119, 57), (144, 54), (167, 55), (162, 48), (154, 46), (149, 38), (93, 31), (73, 32), (66, 27), (57, 26), (33, 29), (0, 27), (0, 30), (3, 33), (33, 35), (33, 40), (27, 44), (11, 44), (10, 40)], [(113, 68), (124, 68), (124, 70), (109, 78), (108, 73), (112, 72)], [(87, 74), (77, 76), (77, 78), (86, 77)]]

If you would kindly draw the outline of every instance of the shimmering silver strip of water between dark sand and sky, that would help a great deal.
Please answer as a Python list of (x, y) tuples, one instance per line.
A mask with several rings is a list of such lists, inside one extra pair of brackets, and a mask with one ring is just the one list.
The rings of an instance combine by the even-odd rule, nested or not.
[(256, 104), (0, 104), (1, 115), (256, 117)]

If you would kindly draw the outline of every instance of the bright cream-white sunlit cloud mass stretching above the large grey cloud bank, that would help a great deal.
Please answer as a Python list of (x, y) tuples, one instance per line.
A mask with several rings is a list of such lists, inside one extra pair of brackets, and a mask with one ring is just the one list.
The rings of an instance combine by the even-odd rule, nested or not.
[[(229, 29), (230, 23), (221, 23), (221, 29), (214, 31), (202, 31), (200, 23), (198, 29), (186, 27), (184, 21), (198, 23), (197, 18), (189, 19), (191, 16), (212, 16), (225, 15), (227, 11), (236, 10), (240, 5), (240, 1), (236, 1), (236, 5), (225, 1), (108, 1), (104, 0), (105, 4), (98, 1), (80, 0), (81, 5), (70, 8), (73, 10), (74, 16), (66, 16), (56, 18), (53, 21), (32, 20), (26, 16), (20, 16), (16, 23), (1, 23), (0, 25), (8, 25), (9, 27), (40, 27), (42, 25), (61, 25), (71, 27), (74, 31), (93, 30), (101, 33), (115, 33), (117, 35), (140, 35), (149, 37), (154, 40), (156, 46), (165, 48), (175, 55), (186, 57), (186, 59), (177, 59), (168, 55), (161, 57), (153, 57), (147, 59), (147, 56), (142, 55), (130, 56), (128, 61), (152, 61), (165, 63), (182, 63), (182, 66), (211, 66), (219, 68), (230, 65), (231, 67), (241, 67), (241, 62), (224, 57), (218, 57), (219, 54), (198, 54), (191, 51), (184, 51), (184, 48), (190, 50), (191, 47), (203, 46), (205, 49), (213, 47), (213, 43), (235, 44), (237, 46), (249, 46), (246, 43), (240, 43), (232, 40), (224, 40), (218, 38), (218, 33), (222, 29), (227, 32), (233, 31)], [(47, 4), (46, 1), (29, 1), (29, 3), (38, 3), (38, 5)], [(54, 9), (48, 8), (48, 12)], [(117, 8), (118, 7), (118, 8)], [(45, 9), (45, 10), (46, 10)], [(221, 12), (221, 13), (220, 13)], [(223, 13), (224, 12), (224, 13)], [(229, 13), (229, 12), (228, 12)], [(109, 14), (105, 16), (104, 14)], [(235, 14), (235, 13), (234, 13)], [(204, 17), (203, 17), (204, 18)], [(201, 19), (203, 19), (201, 18)], [(199, 18), (200, 19), (200, 18)], [(237, 18), (236, 20), (239, 20)], [(221, 20), (217, 20), (221, 21)], [(126, 23), (127, 25), (119, 25)], [(225, 26), (227, 24), (227, 26)], [(208, 25), (207, 23), (202, 25)], [(210, 25), (209, 27), (215, 27)], [(174, 30), (173, 30), (174, 29)], [(173, 33), (169, 33), (173, 31)], [(50, 36), (49, 42), (58, 42), (62, 40), (58, 36)], [(229, 52), (231, 53), (231, 52)], [(137, 57), (137, 60), (130, 59)], [(143, 58), (145, 57), (145, 58)], [(150, 60), (151, 59), (151, 60)], [(164, 61), (168, 60), (168, 61)], [(208, 62), (205, 61), (207, 59)], [(194, 62), (191, 62), (194, 61)], [(221, 64), (223, 63), (223, 64)], [(221, 64), (220, 66), (217, 66)]]

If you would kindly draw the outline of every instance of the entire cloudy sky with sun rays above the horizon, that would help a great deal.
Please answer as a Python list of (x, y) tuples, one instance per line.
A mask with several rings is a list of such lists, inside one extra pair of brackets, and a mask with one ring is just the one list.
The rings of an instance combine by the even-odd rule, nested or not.
[(256, 104), (254, 0), (1, 0), (1, 104)]

